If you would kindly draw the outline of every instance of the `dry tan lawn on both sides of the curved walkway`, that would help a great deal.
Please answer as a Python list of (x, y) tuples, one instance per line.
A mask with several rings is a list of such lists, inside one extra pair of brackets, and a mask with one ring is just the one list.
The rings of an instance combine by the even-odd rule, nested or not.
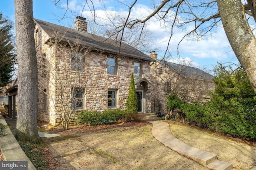
[[(256, 145), (201, 129), (170, 123), (180, 141), (214, 154), (233, 164), (233, 169), (250, 170), (256, 165)], [(45, 139), (46, 147), (60, 163), (55, 170), (206, 170), (162, 145), (151, 135), (150, 123), (120, 123), (83, 126), (68, 131), (50, 129), (60, 137)]]

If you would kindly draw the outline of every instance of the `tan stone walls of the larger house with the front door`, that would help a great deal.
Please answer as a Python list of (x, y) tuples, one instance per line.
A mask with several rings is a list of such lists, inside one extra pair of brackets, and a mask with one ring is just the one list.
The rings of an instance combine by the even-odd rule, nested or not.
[[(150, 62), (83, 49), (84, 70), (71, 70), (72, 45), (46, 45), (48, 37), (37, 27), (37, 59), (38, 59), (38, 119), (60, 125), (61, 116), (70, 107), (72, 88), (84, 90), (83, 107), (76, 109), (71, 116), (74, 121), (76, 113), (82, 110), (125, 109), (130, 86), (130, 77), (134, 72), (134, 62), (142, 64), (142, 77), (150, 80)], [(62, 46), (63, 45), (63, 46)], [(65, 46), (65, 47), (64, 47)], [(72, 50), (70, 50), (70, 48)], [(80, 50), (82, 47), (79, 48)], [(117, 74), (107, 74), (107, 57), (117, 61)], [(44, 66), (46, 65), (46, 66)], [(117, 90), (117, 106), (108, 108), (108, 89)], [(46, 90), (44, 92), (43, 90)], [(44, 93), (47, 94), (44, 109)], [(147, 92), (147, 111), (150, 112), (150, 90)], [(68, 105), (69, 104), (69, 105)], [(65, 108), (64, 106), (68, 106)]]

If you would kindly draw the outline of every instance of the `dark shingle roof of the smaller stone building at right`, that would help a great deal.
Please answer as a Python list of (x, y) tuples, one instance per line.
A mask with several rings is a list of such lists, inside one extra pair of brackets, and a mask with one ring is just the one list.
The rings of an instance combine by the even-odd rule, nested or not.
[(199, 68), (196, 68), (196, 67), (185, 66), (185, 65), (171, 63), (163, 60), (156, 60), (156, 61), (176, 71), (178, 74), (182, 74), (185, 77), (201, 78), (204, 80), (212, 80), (213, 78), (211, 74), (203, 70), (200, 70)]

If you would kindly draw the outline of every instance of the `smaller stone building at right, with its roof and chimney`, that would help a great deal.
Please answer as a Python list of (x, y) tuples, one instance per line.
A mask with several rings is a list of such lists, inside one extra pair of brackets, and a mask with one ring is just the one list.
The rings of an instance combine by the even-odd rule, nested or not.
[(192, 66), (158, 59), (154, 52), (150, 53), (150, 57), (156, 60), (151, 64), (152, 113), (164, 115), (168, 112), (168, 94), (176, 94), (188, 103), (202, 104), (210, 99), (208, 90), (212, 91), (215, 87), (211, 74)]

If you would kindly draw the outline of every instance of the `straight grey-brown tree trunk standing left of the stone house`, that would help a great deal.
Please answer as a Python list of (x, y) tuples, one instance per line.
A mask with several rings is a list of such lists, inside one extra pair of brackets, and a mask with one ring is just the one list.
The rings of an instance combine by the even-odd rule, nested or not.
[(16, 139), (38, 141), (37, 63), (32, 0), (14, 0), (18, 58), (18, 114)]

